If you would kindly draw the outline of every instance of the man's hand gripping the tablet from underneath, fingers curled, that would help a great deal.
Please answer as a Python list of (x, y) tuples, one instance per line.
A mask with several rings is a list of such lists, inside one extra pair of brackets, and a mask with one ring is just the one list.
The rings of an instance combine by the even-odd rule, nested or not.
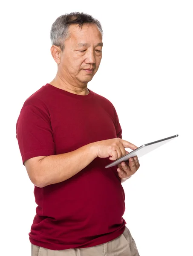
[(127, 162), (121, 162), (118, 164), (118, 176), (121, 179), (129, 178), (131, 175), (133, 175), (137, 170), (139, 169), (139, 161), (138, 157), (131, 157)]

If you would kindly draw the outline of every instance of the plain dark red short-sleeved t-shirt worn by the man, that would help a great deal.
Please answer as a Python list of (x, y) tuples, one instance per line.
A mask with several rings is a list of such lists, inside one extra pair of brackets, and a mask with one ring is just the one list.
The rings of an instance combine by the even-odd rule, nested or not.
[[(108, 99), (92, 90), (83, 96), (46, 84), (24, 103), (16, 133), (24, 163), (121, 138), (122, 131)], [(35, 186), (32, 244), (51, 250), (92, 247), (124, 232), (125, 194), (117, 166), (104, 168), (111, 162), (109, 157), (97, 157), (68, 180)]]

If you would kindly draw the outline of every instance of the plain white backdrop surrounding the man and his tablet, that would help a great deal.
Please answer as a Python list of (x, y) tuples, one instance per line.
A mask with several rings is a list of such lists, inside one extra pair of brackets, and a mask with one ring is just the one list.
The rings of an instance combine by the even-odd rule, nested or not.
[(186, 0), (1, 3), (1, 255), (31, 255), (37, 205), (15, 125), (25, 100), (55, 77), (49, 33), (69, 12), (101, 22), (103, 58), (88, 88), (115, 106), (123, 139), (141, 146), (179, 134), (141, 157), (122, 183), (123, 217), (140, 255), (193, 255), (193, 6)]

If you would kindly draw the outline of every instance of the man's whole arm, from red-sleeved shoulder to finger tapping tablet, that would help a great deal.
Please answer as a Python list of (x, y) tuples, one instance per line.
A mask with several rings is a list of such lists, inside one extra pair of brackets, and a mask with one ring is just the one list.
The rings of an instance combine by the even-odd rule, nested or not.
[[(109, 157), (109, 160), (116, 160), (126, 154), (124, 147), (137, 148), (121, 138), (114, 138), (89, 143), (75, 151), (55, 155), (49, 113), (41, 101), (35, 103), (40, 107), (23, 106), (17, 120), (16, 133), (29, 178), (37, 187), (69, 179), (88, 166), (96, 157)], [(36, 151), (39, 156), (34, 157)]]

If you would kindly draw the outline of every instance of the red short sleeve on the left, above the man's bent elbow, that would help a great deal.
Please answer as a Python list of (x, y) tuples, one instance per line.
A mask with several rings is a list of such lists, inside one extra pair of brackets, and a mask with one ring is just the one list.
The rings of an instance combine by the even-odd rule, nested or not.
[(55, 143), (49, 113), (33, 105), (21, 109), (16, 124), (16, 138), (23, 161), (55, 154)]

